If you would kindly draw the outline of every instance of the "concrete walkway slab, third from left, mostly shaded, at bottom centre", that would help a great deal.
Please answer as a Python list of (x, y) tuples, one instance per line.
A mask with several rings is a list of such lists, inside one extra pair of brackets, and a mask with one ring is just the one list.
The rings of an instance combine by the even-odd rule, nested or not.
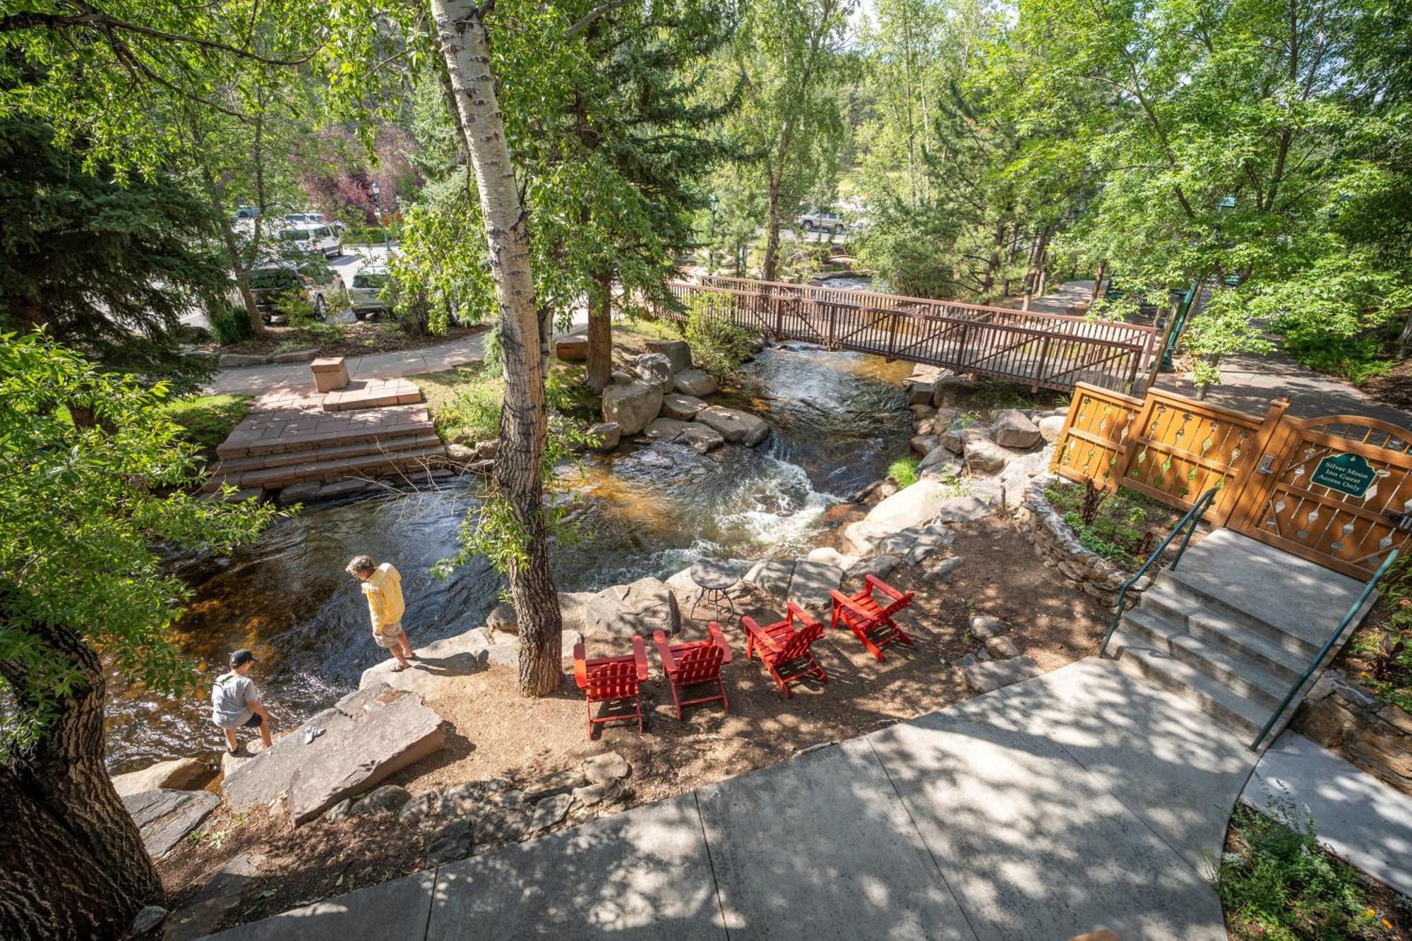
[(698, 791), (734, 940), (974, 938), (861, 739)]

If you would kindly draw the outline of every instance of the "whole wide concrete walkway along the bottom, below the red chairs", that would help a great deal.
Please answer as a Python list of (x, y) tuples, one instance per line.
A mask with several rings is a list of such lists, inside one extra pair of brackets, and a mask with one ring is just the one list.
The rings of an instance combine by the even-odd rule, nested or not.
[(1254, 756), (1089, 657), (914, 722), (222, 941), (1226, 938)]

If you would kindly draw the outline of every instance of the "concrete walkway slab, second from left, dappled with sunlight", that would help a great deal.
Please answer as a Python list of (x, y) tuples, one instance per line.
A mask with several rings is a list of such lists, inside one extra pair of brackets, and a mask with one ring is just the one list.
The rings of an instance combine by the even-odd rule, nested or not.
[[(693, 794), (442, 866), (435, 897), (428, 941), (726, 938)], [(364, 937), (422, 934), (337, 941)]]

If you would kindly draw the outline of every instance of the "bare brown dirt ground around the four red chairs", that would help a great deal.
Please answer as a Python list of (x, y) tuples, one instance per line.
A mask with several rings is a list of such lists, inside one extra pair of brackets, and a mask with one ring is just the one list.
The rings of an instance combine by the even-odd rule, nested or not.
[[(628, 805), (635, 805), (969, 698), (962, 671), (950, 663), (980, 646), (967, 632), (971, 615), (1005, 622), (1019, 649), (1046, 671), (1094, 653), (1110, 612), (1039, 565), (1008, 521), (983, 519), (955, 530), (956, 541), (939, 552), (962, 558), (949, 579), (936, 582), (922, 567), (899, 567), (888, 576), (894, 586), (916, 591), (916, 599), (898, 619), (914, 646), (885, 647), (885, 660), (874, 660), (851, 633), (827, 630), (815, 644), (815, 656), (829, 681), (796, 685), (786, 699), (758, 661), (746, 660), (738, 617), (724, 610), (714, 616), (731, 643), (733, 660), (723, 671), (729, 714), (720, 704), (689, 706), (679, 722), (657, 650), (648, 641), (651, 677), (642, 687), (647, 730), (638, 733), (635, 722), (607, 725), (597, 726), (592, 738), (572, 674), (555, 695), (525, 699), (518, 695), (514, 671), (493, 665), (457, 684), (457, 695), (431, 701), (448, 722), (448, 747), (390, 783), (412, 793), (498, 776), (525, 783), (578, 766), (589, 754), (616, 750), (633, 766)], [(935, 564), (935, 558), (928, 561)], [(846, 591), (857, 588), (858, 579), (844, 581)], [(781, 610), (761, 595), (738, 599), (736, 609), (761, 623), (777, 620)], [(713, 613), (706, 605), (692, 612), (693, 620), (686, 620), (686, 613), (681, 637), (705, 637)], [(812, 613), (827, 626), (827, 610)], [(337, 824), (319, 819), (292, 829), (280, 807), (239, 817), (222, 807), (203, 829), (220, 836), (188, 841), (158, 863), (178, 907), (196, 899), (223, 862), (243, 852), (264, 855), (260, 875), (244, 886), (240, 903), (220, 918), (220, 927), (426, 866), (425, 836), (393, 814)]]

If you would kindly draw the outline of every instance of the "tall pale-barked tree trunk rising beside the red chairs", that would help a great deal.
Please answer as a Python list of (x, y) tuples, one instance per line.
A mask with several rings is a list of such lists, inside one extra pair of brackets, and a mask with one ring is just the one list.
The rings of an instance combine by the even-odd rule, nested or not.
[(476, 172), (500, 315), (505, 401), (491, 487), (505, 500), (524, 554), (510, 567), (520, 622), (520, 692), (541, 697), (559, 685), (559, 596), (549, 575), (541, 462), (546, 435), (544, 379), (548, 338), (534, 300), (528, 218), (520, 202), (504, 122), (490, 71), (483, 7), (432, 0), (436, 44), (446, 61), (466, 150)]

